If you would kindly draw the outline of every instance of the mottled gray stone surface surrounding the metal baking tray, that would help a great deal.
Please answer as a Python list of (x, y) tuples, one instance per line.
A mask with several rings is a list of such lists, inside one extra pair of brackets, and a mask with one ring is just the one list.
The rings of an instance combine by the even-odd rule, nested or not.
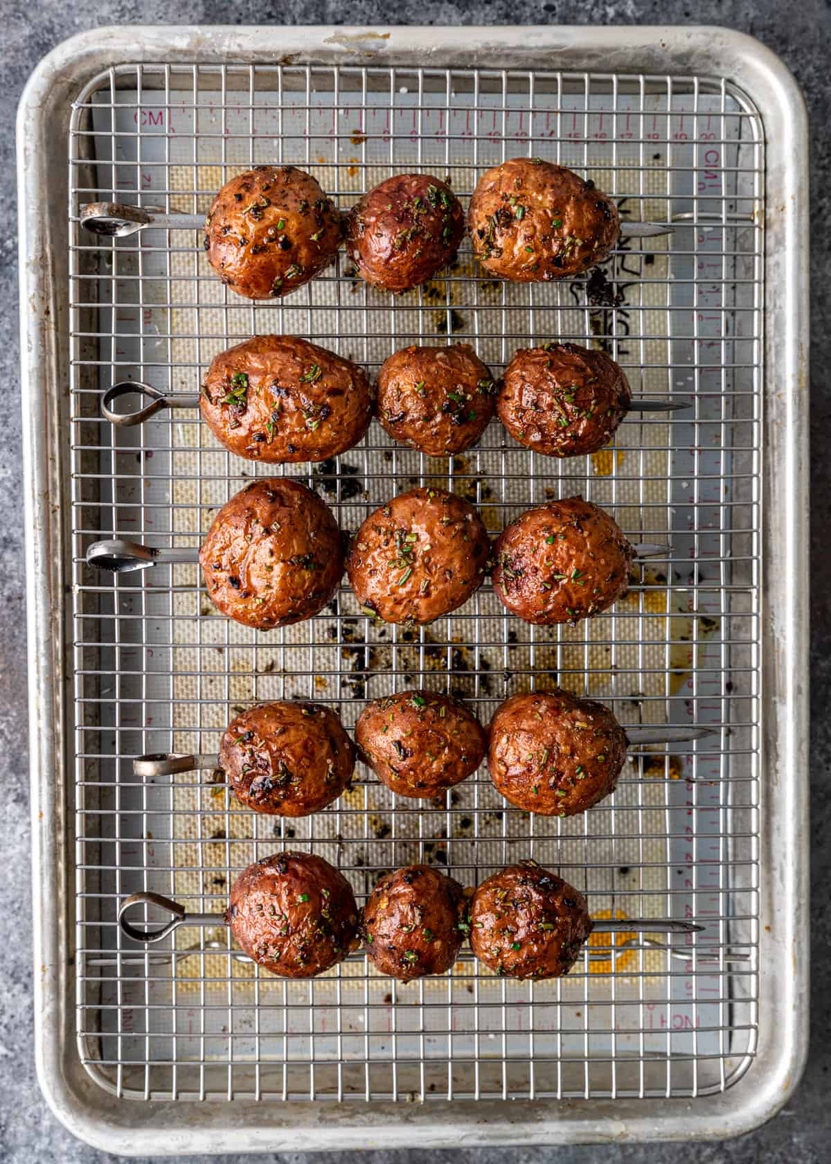
[[(20, 416), (15, 403), (17, 384), (17, 289), (15, 271), (14, 111), (30, 69), (59, 41), (100, 24), (130, 22), (164, 23), (355, 23), (389, 21), (395, 10), (400, 23), (720, 23), (758, 36), (779, 52), (796, 73), (811, 116), (811, 201), (814, 235), (811, 278), (814, 305), (812, 393), (814, 464), (812, 544), (812, 1029), (816, 1032), (804, 1078), (796, 1094), (776, 1119), (760, 1131), (720, 1144), (679, 1144), (653, 1148), (523, 1149), (409, 1154), (372, 1152), (368, 1164), (573, 1164), (603, 1159), (605, 1164), (660, 1159), (666, 1164), (710, 1162), (789, 1161), (821, 1164), (831, 1159), (831, 1105), (828, 1099), (829, 1028), (831, 993), (829, 938), (831, 916), (825, 890), (831, 853), (831, 803), (829, 765), (831, 731), (826, 718), (831, 702), (831, 587), (828, 585), (825, 539), (831, 534), (828, 498), (831, 496), (831, 459), (824, 439), (831, 420), (831, 299), (829, 296), (829, 234), (831, 203), (831, 7), (825, 0), (284, 0), (276, 6), (251, 0), (225, 3), (180, 0), (168, 6), (161, 0), (143, 5), (129, 0), (76, 0), (49, 3), (44, 0), (0, 0), (0, 184), (8, 213), (0, 226), (0, 383), (5, 385), (6, 439), (0, 447), (0, 560), (5, 584), (0, 588), (0, 779), (6, 816), (3, 865), (17, 876), (3, 879), (14, 894), (0, 911), (0, 950), (3, 952), (3, 1007), (0, 1013), (0, 1161), (33, 1164), (63, 1161), (88, 1164), (113, 1159), (76, 1141), (47, 1109), (35, 1079), (31, 1056), (31, 918), (28, 895), (29, 804), (27, 776), (26, 631), (24, 579), (22, 567), (22, 504), (20, 501)], [(17, 892), (19, 887), (19, 892)], [(290, 1154), (279, 1157), (301, 1164), (312, 1157)], [(343, 1159), (343, 1157), (338, 1157)], [(223, 1157), (242, 1161), (243, 1157)], [(277, 1159), (277, 1157), (275, 1157)], [(334, 1164), (335, 1156), (317, 1157)]]

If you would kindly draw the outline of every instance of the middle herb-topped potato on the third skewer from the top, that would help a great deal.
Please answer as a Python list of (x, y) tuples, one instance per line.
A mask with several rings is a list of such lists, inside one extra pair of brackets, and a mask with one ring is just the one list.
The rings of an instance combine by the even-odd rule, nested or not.
[(490, 541), (470, 502), (411, 489), (370, 513), (347, 554), (361, 609), (385, 623), (432, 623), (484, 581)]

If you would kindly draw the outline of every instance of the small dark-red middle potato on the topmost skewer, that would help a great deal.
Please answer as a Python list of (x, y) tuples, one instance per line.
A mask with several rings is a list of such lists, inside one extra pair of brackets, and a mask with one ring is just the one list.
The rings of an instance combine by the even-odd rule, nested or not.
[(445, 182), (398, 173), (351, 208), (347, 251), (371, 286), (411, 291), (446, 267), (464, 235), (464, 212)]

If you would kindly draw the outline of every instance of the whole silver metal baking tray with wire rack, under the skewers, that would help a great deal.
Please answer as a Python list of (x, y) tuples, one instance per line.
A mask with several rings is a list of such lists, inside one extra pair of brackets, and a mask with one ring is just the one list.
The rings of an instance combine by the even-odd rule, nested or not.
[[(805, 127), (783, 66), (722, 29), (104, 30), (38, 66), (19, 133), (37, 1058), (58, 1115), (102, 1148), (162, 1154), (723, 1136), (772, 1114), (802, 1063), (808, 952)], [(193, 232), (138, 243), (78, 225), (95, 200), (200, 211), (275, 156), (348, 205), (392, 169), (439, 169), (464, 196), (484, 165), (537, 152), (674, 235), (630, 246), (595, 285), (493, 286), (462, 248), (403, 299), (341, 261), (250, 305), (218, 288)], [(267, 329), (370, 367), (448, 334), (495, 369), (533, 339), (606, 345), (645, 393), (686, 393), (687, 418), (630, 421), (613, 450), (554, 469), (492, 426), (452, 473), (372, 428), (311, 483), (347, 527), (410, 478), (450, 480), (493, 531), (582, 491), (668, 534), (670, 559), (557, 633), (509, 623), (485, 588), (421, 634), (368, 627), (345, 591), (298, 633), (255, 638), (212, 616), (192, 567), (91, 574), (99, 535), (196, 545), (253, 471), (196, 417), (116, 433), (100, 395), (127, 372), (192, 392), (215, 349)], [(212, 751), (240, 703), (313, 695), (351, 725), (412, 680), (483, 718), (559, 680), (628, 724), (713, 737), (638, 760), (573, 822), (505, 812), (480, 774), (427, 812), (365, 780), (292, 836), (200, 778), (132, 775), (137, 753)], [(684, 957), (587, 952), (533, 989), (469, 961), (395, 987), (362, 959), (286, 986), (225, 937), (151, 956), (119, 936), (125, 894), (211, 908), (285, 843), (336, 860), (358, 894), (419, 857), (471, 881), (533, 853), (595, 910), (706, 930)]]

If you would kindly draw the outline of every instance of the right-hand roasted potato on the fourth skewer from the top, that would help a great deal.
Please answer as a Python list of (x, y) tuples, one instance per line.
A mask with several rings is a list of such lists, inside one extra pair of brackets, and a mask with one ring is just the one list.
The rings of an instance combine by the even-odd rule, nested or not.
[(570, 691), (513, 695), (488, 729), (497, 792), (539, 816), (575, 816), (615, 792), (626, 733), (612, 712)]

